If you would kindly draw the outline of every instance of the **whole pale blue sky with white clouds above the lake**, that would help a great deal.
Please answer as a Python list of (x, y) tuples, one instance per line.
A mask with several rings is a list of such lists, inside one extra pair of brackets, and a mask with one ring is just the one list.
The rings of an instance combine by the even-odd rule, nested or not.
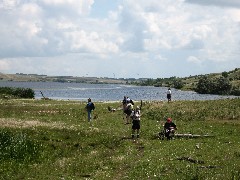
[(168, 78), (240, 68), (239, 0), (0, 0), (0, 72)]

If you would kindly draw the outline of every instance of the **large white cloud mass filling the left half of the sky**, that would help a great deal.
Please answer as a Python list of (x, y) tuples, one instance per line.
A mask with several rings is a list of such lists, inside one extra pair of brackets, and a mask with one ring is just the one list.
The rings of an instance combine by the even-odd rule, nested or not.
[(97, 21), (85, 19), (85, 22), (79, 22), (76, 15), (72, 18), (73, 14), (62, 14), (66, 10), (85, 15), (92, 4), (91, 0), (3, 4), (2, 8), (4, 6), (5, 9), (11, 5), (11, 12), (14, 13), (2, 13), (0, 40), (3, 43), (0, 45), (0, 57), (116, 52), (118, 47), (115, 42), (109, 41), (108, 37), (102, 37), (105, 35), (101, 32), (88, 31), (89, 24), (96, 26)]

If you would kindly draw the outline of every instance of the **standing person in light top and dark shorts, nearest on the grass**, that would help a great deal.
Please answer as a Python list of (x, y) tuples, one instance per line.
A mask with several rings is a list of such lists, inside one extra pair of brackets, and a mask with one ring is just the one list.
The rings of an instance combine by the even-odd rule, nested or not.
[(132, 138), (135, 136), (135, 132), (137, 131), (137, 138), (139, 138), (139, 132), (140, 132), (140, 108), (137, 106), (135, 110), (132, 111), (131, 117), (132, 117)]

